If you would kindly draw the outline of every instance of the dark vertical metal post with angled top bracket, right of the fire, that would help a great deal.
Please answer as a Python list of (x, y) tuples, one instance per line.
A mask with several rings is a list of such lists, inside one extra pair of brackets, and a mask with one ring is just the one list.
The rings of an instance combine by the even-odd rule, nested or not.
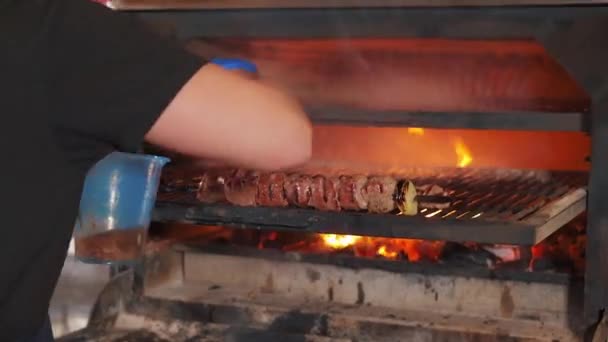
[(587, 201), (585, 319), (608, 308), (608, 16), (570, 18), (542, 43), (592, 98), (591, 174)]

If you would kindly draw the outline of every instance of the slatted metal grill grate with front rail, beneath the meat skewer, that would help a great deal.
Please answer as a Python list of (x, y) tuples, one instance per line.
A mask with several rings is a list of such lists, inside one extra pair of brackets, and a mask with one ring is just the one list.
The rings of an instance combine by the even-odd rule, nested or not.
[(535, 244), (585, 210), (585, 173), (442, 169), (392, 174), (411, 179), (417, 186), (441, 186), (451, 193), (451, 206), (422, 209), (417, 216), (408, 217), (203, 205), (195, 198), (199, 179), (191, 177), (163, 184), (155, 219), (394, 238)]

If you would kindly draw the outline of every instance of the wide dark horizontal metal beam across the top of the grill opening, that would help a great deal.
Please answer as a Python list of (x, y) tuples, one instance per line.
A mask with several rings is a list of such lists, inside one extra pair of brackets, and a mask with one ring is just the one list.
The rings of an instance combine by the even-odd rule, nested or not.
[(196, 37), (418, 37), (542, 39), (573, 20), (606, 15), (608, 6), (546, 8), (344, 8), (135, 11)]

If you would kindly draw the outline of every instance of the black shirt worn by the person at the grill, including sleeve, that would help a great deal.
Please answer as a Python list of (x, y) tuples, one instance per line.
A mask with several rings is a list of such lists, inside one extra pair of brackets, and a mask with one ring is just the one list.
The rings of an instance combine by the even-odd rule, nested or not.
[(0, 0), (0, 341), (46, 318), (86, 171), (135, 151), (201, 65), (88, 0)]

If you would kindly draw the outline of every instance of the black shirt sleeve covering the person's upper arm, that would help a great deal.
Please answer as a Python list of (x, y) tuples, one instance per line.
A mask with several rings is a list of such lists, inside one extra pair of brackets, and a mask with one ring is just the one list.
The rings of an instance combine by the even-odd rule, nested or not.
[(90, 0), (37, 2), (46, 6), (45, 62), (57, 125), (136, 150), (202, 59), (125, 12)]

